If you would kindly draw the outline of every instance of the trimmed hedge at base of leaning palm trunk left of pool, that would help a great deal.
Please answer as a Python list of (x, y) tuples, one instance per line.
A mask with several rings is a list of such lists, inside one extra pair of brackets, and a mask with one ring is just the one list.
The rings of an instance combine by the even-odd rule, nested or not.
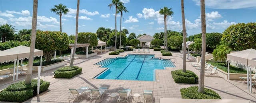
[(82, 73), (82, 68), (78, 66), (73, 66), (73, 67), (64, 66), (64, 67), (58, 68), (58, 70), (54, 72), (54, 78), (72, 78), (80, 73)]

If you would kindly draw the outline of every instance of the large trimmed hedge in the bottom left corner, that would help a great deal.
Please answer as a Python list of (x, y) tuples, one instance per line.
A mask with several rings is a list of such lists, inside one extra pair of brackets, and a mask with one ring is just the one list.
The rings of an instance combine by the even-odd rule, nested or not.
[[(48, 90), (50, 82), (40, 80), (40, 93)], [(0, 101), (24, 102), (36, 96), (37, 80), (25, 85), (25, 81), (14, 83), (0, 92)]]

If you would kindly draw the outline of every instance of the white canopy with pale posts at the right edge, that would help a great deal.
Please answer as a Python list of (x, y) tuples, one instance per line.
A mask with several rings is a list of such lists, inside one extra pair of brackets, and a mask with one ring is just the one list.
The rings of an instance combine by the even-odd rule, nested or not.
[[(255, 49), (246, 49), (244, 51), (238, 51), (234, 53), (227, 54), (228, 60), (228, 80), (229, 80), (229, 61), (239, 62), (247, 66), (247, 87), (249, 90), (249, 84), (252, 83), (251, 78), (251, 68), (256, 67), (256, 50)], [(250, 69), (250, 70), (248, 70)], [(254, 74), (256, 75), (256, 74)], [(250, 78), (250, 79), (249, 79)], [(250, 80), (250, 83), (249, 83)], [(252, 84), (250, 85), (250, 91), (252, 93)]]

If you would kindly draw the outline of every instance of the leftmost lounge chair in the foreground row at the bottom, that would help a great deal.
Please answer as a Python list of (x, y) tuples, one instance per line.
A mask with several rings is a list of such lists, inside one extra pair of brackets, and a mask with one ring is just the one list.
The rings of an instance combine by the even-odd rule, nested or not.
[[(86, 91), (87, 89), (89, 89), (89, 87), (80, 87), (78, 90), (77, 89), (73, 89), (73, 88), (69, 88), (70, 91), (70, 95), (68, 97), (69, 102), (73, 99), (77, 99), (78, 101), (82, 100), (83, 97), (83, 93), (84, 91)], [(78, 97), (81, 95), (81, 99), (79, 100)]]

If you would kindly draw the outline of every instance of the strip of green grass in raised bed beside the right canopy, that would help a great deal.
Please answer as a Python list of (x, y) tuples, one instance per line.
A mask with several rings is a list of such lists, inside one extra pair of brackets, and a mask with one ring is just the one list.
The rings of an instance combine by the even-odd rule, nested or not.
[[(212, 64), (212, 66), (217, 66), (219, 69), (221, 69), (225, 72), (228, 72), (228, 66), (226, 66), (224, 63), (220, 63), (220, 62), (207, 62), (207, 63), (210, 63), (210, 64)], [(230, 65), (230, 73), (246, 74), (246, 70)]]

